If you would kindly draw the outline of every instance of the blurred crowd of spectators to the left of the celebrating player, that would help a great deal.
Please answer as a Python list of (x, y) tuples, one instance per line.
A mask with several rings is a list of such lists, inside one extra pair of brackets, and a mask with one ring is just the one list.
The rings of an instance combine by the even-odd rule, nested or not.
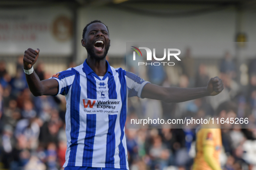
[[(43, 63), (40, 80), (48, 79)], [(0, 62), (0, 169), (59, 170), (65, 162), (65, 98), (34, 97), (18, 57), (16, 75)]]

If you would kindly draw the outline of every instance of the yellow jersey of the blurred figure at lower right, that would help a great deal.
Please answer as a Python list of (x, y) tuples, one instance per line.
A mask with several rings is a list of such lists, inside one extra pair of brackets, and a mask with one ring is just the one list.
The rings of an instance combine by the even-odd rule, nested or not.
[[(220, 151), (222, 148), (221, 131), (220, 129), (200, 129), (196, 138), (196, 157), (194, 158), (194, 164), (192, 170), (212, 170), (211, 167), (204, 160), (204, 146), (214, 147), (214, 154), (212, 159), (220, 166)], [(207, 153), (205, 153), (207, 154)]]

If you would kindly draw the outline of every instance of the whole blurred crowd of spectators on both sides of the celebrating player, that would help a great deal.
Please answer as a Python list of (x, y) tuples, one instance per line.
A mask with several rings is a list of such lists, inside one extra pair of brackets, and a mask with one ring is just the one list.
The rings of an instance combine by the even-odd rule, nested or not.
[[(6, 63), (0, 61), (0, 169), (61, 170), (67, 148), (65, 97), (32, 96), (22, 59), (22, 56), (17, 59), (15, 76), (10, 76)], [(237, 117), (248, 117), (249, 123), (244, 127), (238, 125), (221, 130), (223, 151), (220, 161), (224, 170), (256, 170), (256, 60), (247, 65), (246, 86), (240, 85), (239, 68), (228, 52), (223, 60), (217, 61), (218, 65), (199, 62), (196, 66), (195, 63), (188, 49), (175, 67), (136, 68), (128, 64), (128, 71), (165, 87), (204, 87), (214, 70), (225, 86), (217, 96), (182, 103), (129, 98), (128, 119), (213, 116), (220, 103), (233, 101), (237, 105)], [(43, 63), (36, 65), (35, 72), (40, 80), (50, 77)], [(168, 125), (163, 129), (149, 128), (126, 127), (130, 170), (190, 170), (195, 156), (196, 132), (200, 127), (192, 125), (175, 129)]]

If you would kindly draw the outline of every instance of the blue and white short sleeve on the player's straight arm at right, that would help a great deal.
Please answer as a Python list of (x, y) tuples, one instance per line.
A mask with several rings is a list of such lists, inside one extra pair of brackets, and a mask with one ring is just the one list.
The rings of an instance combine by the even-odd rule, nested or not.
[(126, 85), (128, 88), (128, 97), (138, 96), (141, 98), (141, 92), (143, 87), (149, 82), (141, 79), (132, 72), (126, 72)]

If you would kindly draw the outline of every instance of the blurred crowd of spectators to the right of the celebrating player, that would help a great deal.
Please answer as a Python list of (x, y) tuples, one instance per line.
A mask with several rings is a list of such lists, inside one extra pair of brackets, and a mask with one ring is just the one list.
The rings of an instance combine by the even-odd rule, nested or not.
[[(247, 60), (246, 63), (239, 64), (229, 52), (226, 52), (221, 60), (205, 62), (191, 57), (191, 50), (188, 49), (181, 62), (175, 62), (175, 67), (147, 65), (143, 68), (129, 65), (128, 61), (126, 63), (126, 69), (143, 78), (146, 77), (151, 83), (165, 87), (205, 87), (214, 76), (218, 76), (224, 82), (224, 90), (217, 96), (182, 103), (129, 98), (126, 136), (131, 170), (191, 170), (196, 154), (196, 132), (201, 126), (164, 124), (162, 129), (156, 129), (159, 126), (154, 124), (146, 127), (143, 124), (130, 124), (130, 119), (149, 117), (164, 119), (166, 122), (168, 119), (185, 117), (214, 117), (217, 107), (226, 101), (236, 105), (237, 118), (248, 118), (249, 123), (222, 125), (222, 168), (256, 170), (256, 60)], [(241, 67), (247, 70), (245, 75), (240, 74)], [(241, 75), (247, 79), (241, 78)]]

